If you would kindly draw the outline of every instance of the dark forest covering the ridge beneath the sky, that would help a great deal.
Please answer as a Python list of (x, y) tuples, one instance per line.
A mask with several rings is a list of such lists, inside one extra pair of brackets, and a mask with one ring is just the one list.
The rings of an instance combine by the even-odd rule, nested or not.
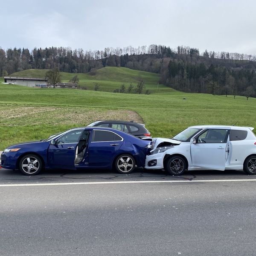
[[(95, 73), (106, 66), (128, 67), (160, 74), (160, 83), (177, 90), (196, 93), (256, 96), (256, 55), (214, 52), (162, 45), (72, 50), (1, 49), (0, 74), (7, 76), (27, 69), (58, 68), (62, 72)], [(247, 98), (248, 99), (248, 98)]]

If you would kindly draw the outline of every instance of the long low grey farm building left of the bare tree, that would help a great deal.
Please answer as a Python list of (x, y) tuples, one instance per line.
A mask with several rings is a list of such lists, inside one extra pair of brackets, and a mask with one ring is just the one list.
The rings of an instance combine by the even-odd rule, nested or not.
[(4, 82), (7, 84), (19, 84), (27, 87), (46, 87), (46, 79), (35, 78), (35, 77), (14, 77), (14, 76), (5, 76)]

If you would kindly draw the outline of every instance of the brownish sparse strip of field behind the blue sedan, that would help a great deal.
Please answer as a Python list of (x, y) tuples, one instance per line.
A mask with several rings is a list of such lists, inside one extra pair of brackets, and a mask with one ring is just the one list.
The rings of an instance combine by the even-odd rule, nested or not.
[(87, 125), (103, 119), (143, 122), (141, 116), (130, 110), (55, 107), (2, 107), (0, 124), (16, 125)]

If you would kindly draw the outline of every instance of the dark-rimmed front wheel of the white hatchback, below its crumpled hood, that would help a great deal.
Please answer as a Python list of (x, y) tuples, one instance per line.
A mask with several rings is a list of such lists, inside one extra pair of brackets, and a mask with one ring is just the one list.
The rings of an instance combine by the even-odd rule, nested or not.
[(165, 164), (165, 170), (174, 176), (183, 175), (186, 168), (186, 160), (180, 156), (170, 157)]

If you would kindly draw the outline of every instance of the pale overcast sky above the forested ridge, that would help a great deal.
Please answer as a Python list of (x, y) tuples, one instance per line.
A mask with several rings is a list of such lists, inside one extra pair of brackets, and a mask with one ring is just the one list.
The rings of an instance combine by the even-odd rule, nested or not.
[(256, 54), (255, 0), (16, 0), (0, 9), (3, 49), (162, 44)]

